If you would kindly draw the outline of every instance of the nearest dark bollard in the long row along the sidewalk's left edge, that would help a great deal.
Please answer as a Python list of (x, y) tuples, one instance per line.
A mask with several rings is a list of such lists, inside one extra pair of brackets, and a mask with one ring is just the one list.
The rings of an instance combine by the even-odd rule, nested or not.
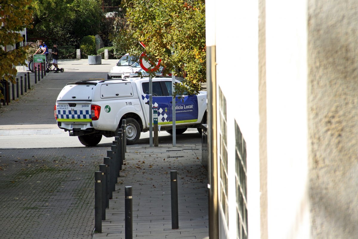
[(95, 231), (102, 232), (102, 172), (95, 172)]

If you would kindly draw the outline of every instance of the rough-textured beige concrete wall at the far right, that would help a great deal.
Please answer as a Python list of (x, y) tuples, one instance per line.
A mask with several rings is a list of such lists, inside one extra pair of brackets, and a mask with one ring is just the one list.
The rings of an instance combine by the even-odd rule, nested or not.
[(312, 238), (358, 235), (358, 2), (308, 1)]

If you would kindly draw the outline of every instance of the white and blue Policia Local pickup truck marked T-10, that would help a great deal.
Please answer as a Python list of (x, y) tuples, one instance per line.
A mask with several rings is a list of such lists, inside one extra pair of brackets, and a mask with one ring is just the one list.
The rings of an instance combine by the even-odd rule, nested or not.
[[(173, 132), (171, 86), (171, 78), (153, 78), (153, 106), (158, 107), (160, 130), (168, 133)], [(206, 91), (177, 96), (175, 104), (176, 134), (187, 128), (201, 133), (201, 124), (206, 123)], [(127, 144), (135, 144), (140, 133), (149, 130), (149, 78), (68, 83), (57, 97), (54, 116), (59, 128), (86, 146), (97, 145), (102, 135), (114, 137), (126, 119)]]

